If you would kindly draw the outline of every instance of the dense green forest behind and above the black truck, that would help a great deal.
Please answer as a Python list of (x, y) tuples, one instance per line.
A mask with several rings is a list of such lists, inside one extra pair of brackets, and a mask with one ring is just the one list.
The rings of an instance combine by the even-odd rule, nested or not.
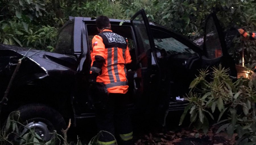
[[(0, 0), (0, 43), (54, 51), (58, 31), (69, 16), (130, 19), (145, 9), (148, 19), (187, 36), (203, 36), (205, 18), (217, 12), (225, 31), (256, 30), (256, 0)], [(230, 49), (241, 63), (240, 39)], [(255, 66), (255, 42), (243, 42), (247, 67)]]

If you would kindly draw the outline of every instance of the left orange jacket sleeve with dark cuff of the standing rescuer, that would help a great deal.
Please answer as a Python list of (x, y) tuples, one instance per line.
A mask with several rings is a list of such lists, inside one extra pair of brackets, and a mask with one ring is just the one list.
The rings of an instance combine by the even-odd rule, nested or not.
[(95, 35), (92, 39), (92, 51), (91, 51), (92, 66), (90, 73), (99, 74), (102, 66), (107, 58), (105, 53), (105, 45), (100, 36)]

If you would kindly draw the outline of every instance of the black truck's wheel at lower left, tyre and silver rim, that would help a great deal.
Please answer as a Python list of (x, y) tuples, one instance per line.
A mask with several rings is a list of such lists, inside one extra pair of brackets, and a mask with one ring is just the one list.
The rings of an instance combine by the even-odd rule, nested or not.
[[(61, 114), (51, 107), (41, 104), (24, 105), (18, 108), (22, 123), (34, 131), (46, 142), (55, 136), (54, 130), (61, 134), (66, 123)], [(21, 127), (20, 135), (23, 136), (28, 129)]]

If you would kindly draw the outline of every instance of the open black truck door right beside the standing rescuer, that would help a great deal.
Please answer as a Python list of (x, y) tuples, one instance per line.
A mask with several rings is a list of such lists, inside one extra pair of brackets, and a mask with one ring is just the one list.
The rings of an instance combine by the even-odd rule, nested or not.
[[(154, 39), (144, 10), (137, 12), (131, 19), (137, 42), (137, 70), (134, 75), (135, 94), (138, 107), (144, 114), (160, 114), (160, 68), (158, 67)], [(168, 102), (166, 102), (168, 105)], [(163, 106), (163, 105), (162, 105)], [(162, 111), (164, 112), (164, 111)], [(150, 116), (147, 115), (147, 116)]]

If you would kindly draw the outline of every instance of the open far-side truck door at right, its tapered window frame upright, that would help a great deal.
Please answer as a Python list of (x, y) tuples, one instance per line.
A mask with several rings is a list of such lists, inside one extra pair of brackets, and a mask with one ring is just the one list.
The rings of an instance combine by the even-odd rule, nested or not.
[(222, 64), (222, 67), (230, 68), (230, 75), (236, 77), (234, 59), (228, 54), (225, 37), (219, 20), (215, 13), (211, 13), (205, 24), (205, 36), (202, 57), (203, 67), (212, 67)]

